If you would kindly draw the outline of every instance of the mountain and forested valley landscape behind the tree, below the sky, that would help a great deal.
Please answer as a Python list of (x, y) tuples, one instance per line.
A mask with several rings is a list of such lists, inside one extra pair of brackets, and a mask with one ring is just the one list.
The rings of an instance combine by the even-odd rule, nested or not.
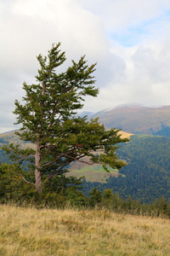
[[(127, 162), (127, 166), (120, 171), (110, 168), (110, 172), (105, 172), (100, 165), (88, 166), (77, 161), (68, 166), (70, 172), (67, 176), (84, 177), (82, 191), (85, 195), (97, 187), (101, 191), (112, 189), (124, 199), (131, 195), (133, 200), (142, 203), (152, 203), (161, 196), (168, 200), (170, 107), (121, 106), (95, 115), (90, 113), (90, 118), (95, 118), (97, 114), (108, 129), (114, 123), (116, 128), (122, 128), (123, 131), (119, 131), (122, 137), (131, 139), (131, 142), (123, 143), (121, 148), (116, 149), (116, 154)], [(0, 134), (0, 146), (9, 143), (20, 143), (23, 148), (32, 146), (29, 142), (20, 142), (14, 131)], [(0, 161), (8, 162), (2, 150)]]

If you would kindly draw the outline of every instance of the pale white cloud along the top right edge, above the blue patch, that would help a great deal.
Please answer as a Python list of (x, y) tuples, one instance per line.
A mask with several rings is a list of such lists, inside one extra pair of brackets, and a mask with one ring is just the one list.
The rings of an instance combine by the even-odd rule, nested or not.
[(156, 19), (169, 8), (168, 0), (81, 0), (84, 7), (105, 19), (108, 28), (122, 30)]

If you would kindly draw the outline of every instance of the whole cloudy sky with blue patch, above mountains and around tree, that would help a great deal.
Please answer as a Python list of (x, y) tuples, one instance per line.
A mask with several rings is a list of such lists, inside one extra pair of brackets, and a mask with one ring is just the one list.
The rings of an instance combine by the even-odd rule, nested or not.
[(170, 105), (169, 0), (0, 0), (0, 32), (0, 133), (18, 128), (14, 100), (35, 82), (36, 56), (59, 42), (64, 67), (97, 62), (99, 96), (83, 111)]

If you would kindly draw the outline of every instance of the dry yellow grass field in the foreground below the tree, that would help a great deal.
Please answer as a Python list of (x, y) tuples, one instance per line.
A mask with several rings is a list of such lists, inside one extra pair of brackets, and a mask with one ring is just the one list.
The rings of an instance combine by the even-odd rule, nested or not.
[(0, 206), (0, 255), (170, 255), (170, 220)]

